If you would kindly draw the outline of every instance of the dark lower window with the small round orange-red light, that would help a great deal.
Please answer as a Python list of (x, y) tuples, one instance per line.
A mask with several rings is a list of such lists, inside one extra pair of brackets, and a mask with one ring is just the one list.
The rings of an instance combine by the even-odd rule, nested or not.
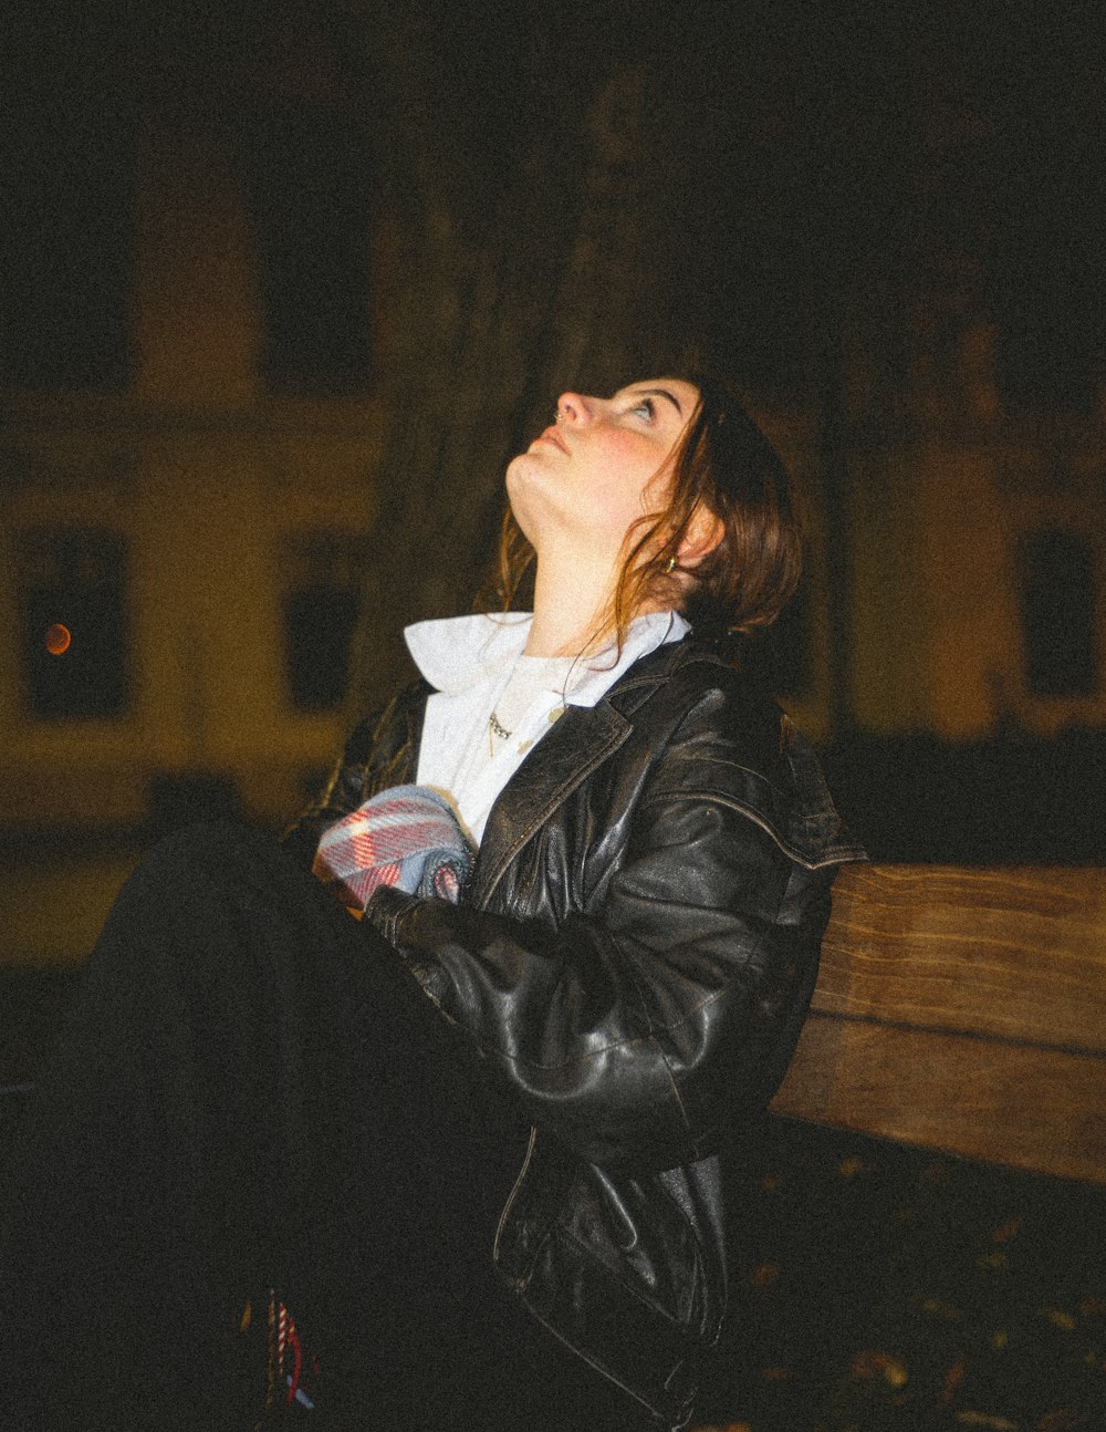
[(19, 554), (26, 707), (117, 717), (129, 705), (126, 543), (92, 527), (37, 528)]

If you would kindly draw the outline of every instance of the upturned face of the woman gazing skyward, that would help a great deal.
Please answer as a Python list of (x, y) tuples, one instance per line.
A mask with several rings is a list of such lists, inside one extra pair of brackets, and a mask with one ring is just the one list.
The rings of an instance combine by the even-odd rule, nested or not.
[(561, 394), (558, 421), (506, 470), (511, 508), (538, 556), (555, 546), (614, 571), (630, 528), (667, 497), (697, 402), (681, 378), (634, 382), (612, 398)]

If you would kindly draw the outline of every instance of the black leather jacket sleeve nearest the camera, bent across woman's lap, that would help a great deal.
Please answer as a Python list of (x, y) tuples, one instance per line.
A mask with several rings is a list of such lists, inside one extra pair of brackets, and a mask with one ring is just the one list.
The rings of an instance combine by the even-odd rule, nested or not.
[(783, 1078), (817, 975), (831, 869), (798, 865), (728, 795), (733, 762), (677, 765), (638, 800), (602, 895), (555, 934), (395, 891), (366, 912), (529, 1117), (592, 1163), (713, 1151)]

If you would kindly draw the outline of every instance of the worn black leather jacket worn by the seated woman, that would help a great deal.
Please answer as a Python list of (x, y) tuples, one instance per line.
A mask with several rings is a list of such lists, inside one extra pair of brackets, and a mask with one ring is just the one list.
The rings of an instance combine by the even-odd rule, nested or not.
[[(320, 829), (413, 780), (429, 687), (351, 736)], [(718, 1148), (798, 1038), (836, 868), (863, 859), (816, 756), (714, 649), (569, 706), (502, 790), (459, 905), (369, 919), (532, 1121), (496, 1266), (529, 1310), (684, 1426), (725, 1309)]]

